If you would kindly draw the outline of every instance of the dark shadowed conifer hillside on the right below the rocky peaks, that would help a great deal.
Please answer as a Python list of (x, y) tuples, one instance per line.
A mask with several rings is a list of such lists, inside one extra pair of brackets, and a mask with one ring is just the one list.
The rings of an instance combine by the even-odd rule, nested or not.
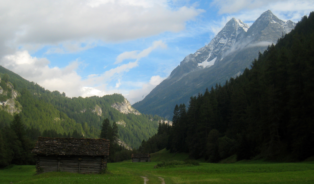
[(167, 147), (211, 162), (234, 154), (237, 160), (313, 156), (314, 12), (259, 53), (251, 67), (191, 97), (187, 111), (176, 106), (173, 126), (160, 125), (140, 149)]

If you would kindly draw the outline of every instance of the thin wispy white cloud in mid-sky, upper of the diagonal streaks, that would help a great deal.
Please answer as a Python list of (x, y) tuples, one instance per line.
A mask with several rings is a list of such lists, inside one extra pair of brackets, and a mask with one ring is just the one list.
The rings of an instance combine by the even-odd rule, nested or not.
[(137, 59), (138, 61), (142, 57), (148, 56), (151, 51), (153, 51), (154, 49), (158, 47), (167, 48), (167, 45), (160, 40), (160, 41), (154, 41), (151, 47), (148, 47), (147, 49), (144, 49), (143, 51), (139, 53), (138, 51), (123, 52), (122, 54), (117, 56), (115, 64), (120, 63), (125, 59)]

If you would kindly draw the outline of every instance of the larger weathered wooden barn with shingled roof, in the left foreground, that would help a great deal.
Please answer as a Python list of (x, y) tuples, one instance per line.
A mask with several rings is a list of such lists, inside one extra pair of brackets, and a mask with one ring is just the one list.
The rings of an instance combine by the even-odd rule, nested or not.
[(38, 137), (36, 171), (99, 173), (107, 167), (108, 139)]

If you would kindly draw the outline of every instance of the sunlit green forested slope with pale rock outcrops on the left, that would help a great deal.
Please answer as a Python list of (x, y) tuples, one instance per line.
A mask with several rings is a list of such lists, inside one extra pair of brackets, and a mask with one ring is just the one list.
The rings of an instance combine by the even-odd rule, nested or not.
[(84, 138), (98, 138), (102, 122), (108, 118), (117, 123), (120, 139), (132, 148), (157, 133), (158, 122), (164, 119), (139, 113), (121, 94), (68, 98), (65, 93), (45, 90), (2, 66), (0, 105), (0, 131), (19, 113), (24, 126), (36, 135), (53, 131), (67, 136), (75, 131)]

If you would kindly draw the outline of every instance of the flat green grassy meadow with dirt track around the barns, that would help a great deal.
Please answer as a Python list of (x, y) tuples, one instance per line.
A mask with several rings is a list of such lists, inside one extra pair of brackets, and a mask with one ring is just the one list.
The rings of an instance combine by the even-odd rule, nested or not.
[(314, 162), (269, 163), (263, 161), (234, 164), (201, 163), (154, 169), (157, 162), (108, 163), (110, 174), (83, 175), (65, 172), (35, 174), (33, 165), (15, 165), (0, 170), (0, 183), (101, 183), (101, 184), (201, 184), (201, 183), (314, 183)]

